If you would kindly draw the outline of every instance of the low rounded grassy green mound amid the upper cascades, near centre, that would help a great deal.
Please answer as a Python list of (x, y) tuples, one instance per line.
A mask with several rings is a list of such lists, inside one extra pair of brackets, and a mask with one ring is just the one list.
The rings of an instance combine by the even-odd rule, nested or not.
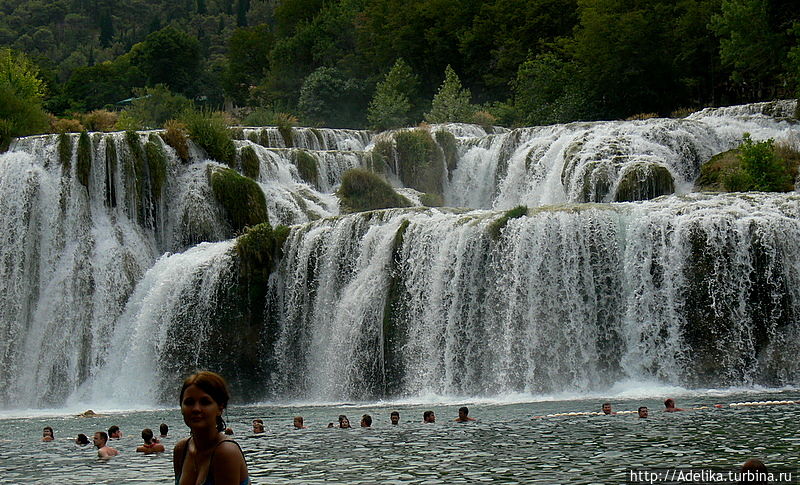
[(395, 192), (380, 176), (359, 168), (342, 175), (342, 185), (336, 192), (343, 212), (362, 212), (390, 207), (410, 207), (405, 197)]

